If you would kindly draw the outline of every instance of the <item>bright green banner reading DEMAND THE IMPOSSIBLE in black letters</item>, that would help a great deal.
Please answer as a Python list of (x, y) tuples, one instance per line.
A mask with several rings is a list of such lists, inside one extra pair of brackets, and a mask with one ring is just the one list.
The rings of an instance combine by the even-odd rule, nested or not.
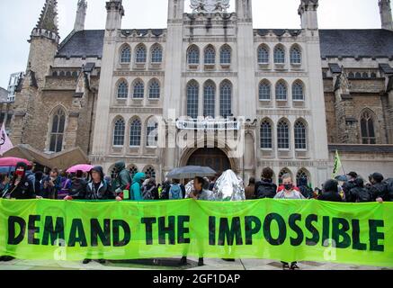
[(393, 266), (393, 203), (0, 200), (0, 256)]

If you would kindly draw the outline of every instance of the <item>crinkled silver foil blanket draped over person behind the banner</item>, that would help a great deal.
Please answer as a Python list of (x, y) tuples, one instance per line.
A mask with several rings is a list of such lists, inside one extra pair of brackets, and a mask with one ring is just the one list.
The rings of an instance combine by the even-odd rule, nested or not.
[(244, 201), (246, 200), (245, 184), (235, 172), (224, 172), (214, 184), (214, 198), (216, 201)]

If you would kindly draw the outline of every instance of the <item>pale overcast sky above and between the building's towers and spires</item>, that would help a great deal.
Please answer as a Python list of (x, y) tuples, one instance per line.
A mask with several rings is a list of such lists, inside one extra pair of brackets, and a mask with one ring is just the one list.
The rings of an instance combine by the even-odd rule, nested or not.
[[(29, 54), (31, 29), (45, 0), (0, 0), (0, 86), (9, 75), (24, 71)], [(103, 29), (105, 0), (87, 0), (85, 29)], [(234, 10), (234, 0), (231, 1)], [(254, 0), (255, 28), (299, 28), (299, 0)], [(73, 29), (77, 0), (58, 0), (61, 39)], [(186, 0), (186, 6), (190, 1)], [(126, 15), (122, 28), (165, 28), (167, 0), (123, 0)], [(187, 8), (187, 10), (189, 10)], [(380, 28), (378, 0), (319, 0), (319, 27), (323, 29)]]

